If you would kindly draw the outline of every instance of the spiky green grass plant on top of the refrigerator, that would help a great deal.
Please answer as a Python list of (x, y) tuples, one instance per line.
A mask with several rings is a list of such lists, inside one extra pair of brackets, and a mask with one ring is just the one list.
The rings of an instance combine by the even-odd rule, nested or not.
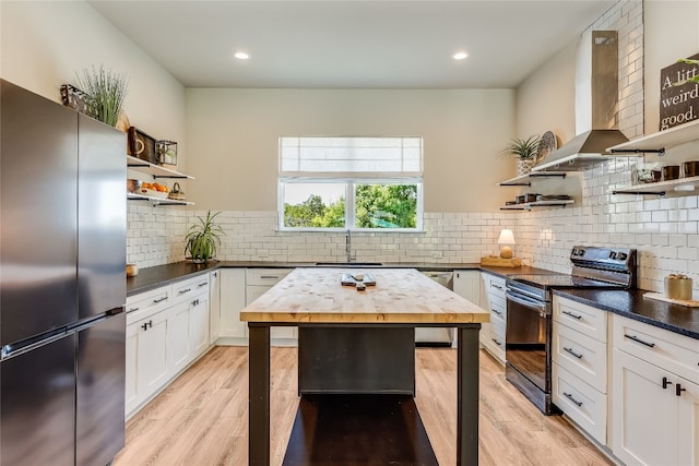
[(127, 96), (129, 80), (104, 67), (83, 71), (83, 79), (78, 77), (78, 86), (85, 94), (86, 113), (95, 120), (111, 127), (117, 126), (121, 108)]

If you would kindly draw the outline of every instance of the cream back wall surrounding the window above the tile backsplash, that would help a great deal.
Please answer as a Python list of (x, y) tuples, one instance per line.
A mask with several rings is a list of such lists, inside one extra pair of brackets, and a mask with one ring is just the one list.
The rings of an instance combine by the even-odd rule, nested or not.
[(488, 212), (514, 163), (512, 89), (187, 89), (189, 183), (198, 207), (276, 211), (281, 135), (417, 135), (425, 211)]

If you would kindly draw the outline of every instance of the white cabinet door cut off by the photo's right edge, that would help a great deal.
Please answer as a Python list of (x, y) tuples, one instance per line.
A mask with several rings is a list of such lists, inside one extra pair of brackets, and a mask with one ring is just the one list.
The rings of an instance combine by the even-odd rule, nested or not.
[(677, 397), (677, 464), (699, 465), (699, 384), (682, 378), (675, 383), (685, 389)]

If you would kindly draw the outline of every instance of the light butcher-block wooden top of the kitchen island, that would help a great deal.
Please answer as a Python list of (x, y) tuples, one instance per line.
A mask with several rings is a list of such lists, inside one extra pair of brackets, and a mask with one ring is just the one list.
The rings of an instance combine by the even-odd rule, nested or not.
[[(343, 273), (369, 273), (376, 286), (342, 286)], [(489, 312), (415, 268), (296, 268), (240, 312), (275, 323), (460, 324), (489, 322)]]

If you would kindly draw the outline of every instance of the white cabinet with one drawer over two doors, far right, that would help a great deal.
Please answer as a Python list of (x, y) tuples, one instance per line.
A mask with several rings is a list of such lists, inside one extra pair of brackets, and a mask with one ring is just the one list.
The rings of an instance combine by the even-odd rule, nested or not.
[(627, 465), (699, 465), (696, 339), (614, 315), (612, 451)]

